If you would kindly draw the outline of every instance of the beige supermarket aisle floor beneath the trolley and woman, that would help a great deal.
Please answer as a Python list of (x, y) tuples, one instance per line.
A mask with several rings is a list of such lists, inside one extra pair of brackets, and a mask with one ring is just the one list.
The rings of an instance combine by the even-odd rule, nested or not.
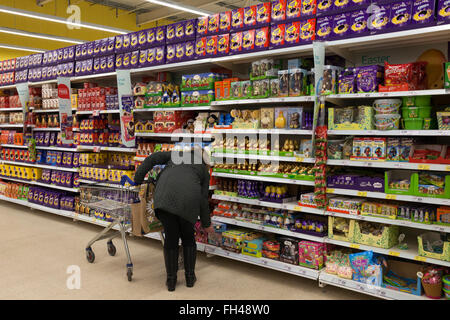
[[(194, 289), (184, 285), (169, 293), (164, 285), (161, 244), (131, 240), (133, 282), (125, 275), (125, 254), (116, 240), (116, 257), (106, 244), (94, 245), (96, 261), (84, 254), (87, 241), (100, 227), (64, 217), (0, 203), (0, 299), (370, 299), (348, 290), (221, 257), (198, 257)], [(67, 267), (81, 269), (81, 288), (69, 290)]]

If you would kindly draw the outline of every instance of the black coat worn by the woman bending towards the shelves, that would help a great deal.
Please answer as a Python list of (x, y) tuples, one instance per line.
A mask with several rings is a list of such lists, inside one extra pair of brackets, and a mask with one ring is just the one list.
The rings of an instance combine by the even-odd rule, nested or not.
[(155, 165), (167, 165), (156, 184), (153, 196), (155, 210), (175, 214), (192, 224), (195, 224), (200, 216), (202, 226), (209, 227), (211, 225), (208, 202), (209, 172), (201, 154), (155, 152), (136, 170), (134, 182), (142, 184), (147, 173)]

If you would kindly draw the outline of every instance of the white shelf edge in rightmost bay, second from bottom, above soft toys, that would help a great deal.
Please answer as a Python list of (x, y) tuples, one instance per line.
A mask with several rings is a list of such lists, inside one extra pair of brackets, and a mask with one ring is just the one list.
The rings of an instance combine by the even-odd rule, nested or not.
[(407, 250), (400, 250), (395, 247), (390, 248), (390, 249), (383, 249), (383, 248), (377, 248), (377, 247), (372, 247), (372, 246), (366, 246), (364, 244), (351, 243), (351, 242), (347, 242), (347, 241), (339, 241), (339, 240), (334, 240), (334, 239), (329, 239), (329, 238), (326, 238), (325, 242), (335, 244), (335, 245), (338, 245), (341, 247), (359, 249), (362, 251), (373, 251), (373, 252), (381, 253), (381, 254), (384, 254), (387, 256), (399, 257), (399, 258), (404, 258), (404, 259), (408, 259), (408, 260), (415, 260), (415, 261), (427, 262), (427, 263), (432, 263), (432, 264), (436, 264), (436, 265), (440, 265), (440, 266), (450, 267), (449, 261), (443, 261), (443, 260), (419, 256), (418, 249), (417, 249), (417, 238), (408, 239), (408, 237), (406, 237), (405, 242), (408, 243)]

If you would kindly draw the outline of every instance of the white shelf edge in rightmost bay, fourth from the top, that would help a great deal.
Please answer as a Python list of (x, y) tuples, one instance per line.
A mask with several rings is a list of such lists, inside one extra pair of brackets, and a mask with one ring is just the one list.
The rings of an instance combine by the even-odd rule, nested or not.
[(449, 164), (412, 163), (412, 162), (397, 162), (397, 161), (328, 160), (327, 164), (332, 166), (346, 166), (346, 167), (450, 171)]

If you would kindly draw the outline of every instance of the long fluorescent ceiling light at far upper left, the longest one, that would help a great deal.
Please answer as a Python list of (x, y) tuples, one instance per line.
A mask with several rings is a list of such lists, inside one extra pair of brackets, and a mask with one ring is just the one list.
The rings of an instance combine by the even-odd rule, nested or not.
[(118, 33), (118, 34), (126, 34), (126, 33), (130, 32), (128, 30), (117, 29), (117, 28), (113, 28), (113, 27), (105, 27), (105, 26), (93, 24), (93, 23), (70, 22), (61, 17), (51, 16), (51, 15), (47, 15), (47, 14), (26, 11), (26, 10), (21, 10), (21, 9), (16, 9), (16, 8), (10, 8), (10, 7), (5, 7), (5, 6), (0, 6), (0, 12), (13, 14), (16, 16), (21, 16), (21, 17), (26, 17), (26, 18), (31, 18), (31, 19), (38, 19), (38, 20), (44, 20), (44, 21), (49, 21), (49, 22), (65, 24), (68, 26), (70, 25), (73, 27), (88, 28), (88, 29), (105, 31), (105, 32), (112, 32), (112, 33)]

